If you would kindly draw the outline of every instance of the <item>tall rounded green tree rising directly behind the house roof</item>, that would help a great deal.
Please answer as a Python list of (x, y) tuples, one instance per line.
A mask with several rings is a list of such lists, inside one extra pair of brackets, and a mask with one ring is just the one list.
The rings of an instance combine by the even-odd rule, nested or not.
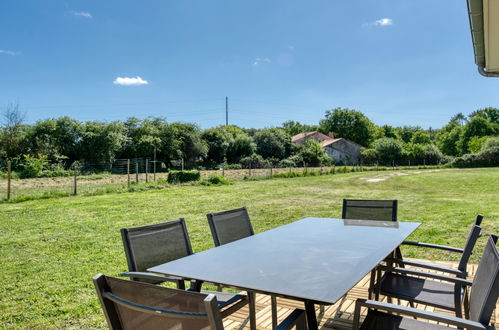
[(334, 132), (336, 137), (368, 147), (374, 138), (376, 127), (360, 111), (336, 108), (326, 111), (326, 118), (320, 121), (320, 130), (324, 134)]

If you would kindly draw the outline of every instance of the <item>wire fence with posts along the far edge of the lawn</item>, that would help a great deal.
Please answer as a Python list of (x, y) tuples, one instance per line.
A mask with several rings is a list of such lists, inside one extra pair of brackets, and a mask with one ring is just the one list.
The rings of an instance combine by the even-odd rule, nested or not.
[[(2, 165), (4, 174), (0, 178), (0, 200), (104, 194), (128, 191), (141, 184), (153, 186), (156, 184), (159, 187), (161, 183), (162, 187), (166, 187), (169, 171), (184, 169), (184, 162), (177, 160), (169, 162), (167, 165), (151, 158), (117, 159), (107, 163), (75, 162), (65, 166), (64, 171), (61, 172), (63, 175), (54, 176), (54, 173), (49, 172), (51, 177), (27, 179), (10, 171), (10, 167), (10, 162)], [(231, 181), (239, 181), (275, 177), (282, 173), (289, 173), (289, 176), (303, 175), (305, 172), (308, 175), (322, 175), (386, 169), (392, 170), (396, 167), (356, 165), (283, 168), (266, 164), (258, 166), (258, 168), (252, 168), (251, 165), (248, 165), (247, 168), (230, 169), (221, 165), (217, 169), (200, 170), (200, 174), (202, 179), (219, 174)], [(282, 174), (282, 176), (284, 175), (286, 174)]]

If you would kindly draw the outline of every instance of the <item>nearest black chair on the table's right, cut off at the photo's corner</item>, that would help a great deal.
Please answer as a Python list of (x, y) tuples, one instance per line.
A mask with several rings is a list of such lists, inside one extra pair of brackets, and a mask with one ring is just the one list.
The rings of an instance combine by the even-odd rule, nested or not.
[[(469, 318), (463, 319), (411, 307), (358, 299), (355, 304), (353, 329), (449, 329), (449, 327), (442, 324), (427, 323), (414, 318), (431, 320), (465, 329), (494, 329), (489, 323), (499, 297), (499, 253), (496, 244), (497, 236), (491, 235), (473, 282), (434, 274), (438, 276), (438, 279), (454, 283), (457, 286), (471, 287), (470, 304), (466, 313), (469, 314)], [(359, 328), (362, 307), (367, 307), (368, 312)]]

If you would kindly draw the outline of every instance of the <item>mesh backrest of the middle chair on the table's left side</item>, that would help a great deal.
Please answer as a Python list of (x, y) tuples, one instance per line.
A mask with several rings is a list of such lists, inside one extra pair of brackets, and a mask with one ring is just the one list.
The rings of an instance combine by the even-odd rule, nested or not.
[(184, 219), (121, 229), (128, 270), (147, 268), (192, 254)]

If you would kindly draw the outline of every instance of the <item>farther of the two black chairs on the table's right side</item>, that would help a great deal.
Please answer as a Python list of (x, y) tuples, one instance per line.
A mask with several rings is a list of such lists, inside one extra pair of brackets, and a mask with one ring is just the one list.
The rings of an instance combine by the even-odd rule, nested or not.
[[(462, 254), (459, 268), (456, 270), (443, 268), (436, 265), (427, 266), (432, 270), (441, 270), (448, 275), (436, 275), (420, 270), (407, 268), (394, 268), (378, 266), (376, 271), (376, 300), (379, 300), (379, 295), (384, 295), (391, 298), (397, 298), (413, 303), (425, 304), (456, 313), (457, 317), (462, 316), (462, 305), (464, 304), (465, 311), (468, 310), (468, 294), (467, 287), (459, 284), (459, 282), (436, 281), (440, 280), (440, 276), (454, 277), (458, 279), (466, 278), (466, 268), (471, 251), (480, 236), (481, 228), (474, 225), (466, 243), (464, 253)], [(406, 262), (406, 265), (414, 264)], [(416, 264), (419, 266), (418, 264)], [(381, 272), (384, 271), (383, 276)], [(464, 276), (464, 277), (463, 277)], [(467, 317), (468, 315), (466, 315)]]

